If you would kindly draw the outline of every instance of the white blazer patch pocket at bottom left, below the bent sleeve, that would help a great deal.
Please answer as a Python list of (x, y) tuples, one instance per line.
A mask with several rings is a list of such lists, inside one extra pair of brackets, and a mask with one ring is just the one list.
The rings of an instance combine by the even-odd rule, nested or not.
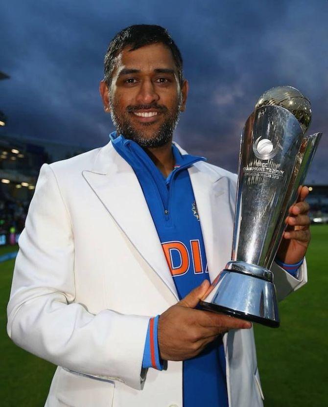
[(55, 397), (58, 406), (111, 407), (115, 382), (92, 379), (60, 368)]

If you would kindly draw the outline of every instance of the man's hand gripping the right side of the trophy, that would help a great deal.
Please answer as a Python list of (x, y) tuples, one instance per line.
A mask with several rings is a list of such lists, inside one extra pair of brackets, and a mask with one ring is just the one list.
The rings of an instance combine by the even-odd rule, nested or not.
[(288, 226), (283, 234), (277, 257), (286, 264), (295, 264), (301, 261), (310, 243), (309, 205), (304, 201), (308, 192), (306, 186), (300, 187), (298, 202), (289, 208), (289, 216), (285, 220)]

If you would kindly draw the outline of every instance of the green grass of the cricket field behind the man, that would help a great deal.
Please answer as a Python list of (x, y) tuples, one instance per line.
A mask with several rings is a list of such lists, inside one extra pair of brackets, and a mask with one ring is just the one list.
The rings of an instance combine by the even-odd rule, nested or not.
[[(308, 284), (281, 302), (279, 329), (255, 327), (265, 407), (328, 406), (328, 226), (313, 226), (311, 231)], [(0, 248), (0, 255), (15, 250)], [(0, 405), (41, 407), (55, 366), (7, 337), (5, 308), (13, 266), (14, 260), (0, 263)]]

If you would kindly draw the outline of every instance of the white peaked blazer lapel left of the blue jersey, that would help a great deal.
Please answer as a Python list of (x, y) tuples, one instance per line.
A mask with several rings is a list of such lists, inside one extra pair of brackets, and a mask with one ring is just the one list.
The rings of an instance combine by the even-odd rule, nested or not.
[(131, 166), (110, 142), (100, 149), (94, 167), (82, 171), (82, 175), (132, 245), (179, 299), (153, 219)]

